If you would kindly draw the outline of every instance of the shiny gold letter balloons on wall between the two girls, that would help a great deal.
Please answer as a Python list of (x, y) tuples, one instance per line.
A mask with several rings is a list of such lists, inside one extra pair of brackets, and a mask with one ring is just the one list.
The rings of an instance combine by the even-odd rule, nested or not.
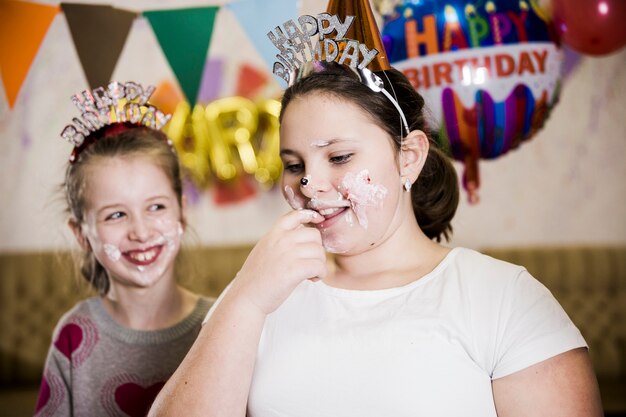
[(280, 103), (226, 97), (207, 105), (180, 101), (165, 131), (198, 187), (250, 175), (266, 189), (278, 180)]

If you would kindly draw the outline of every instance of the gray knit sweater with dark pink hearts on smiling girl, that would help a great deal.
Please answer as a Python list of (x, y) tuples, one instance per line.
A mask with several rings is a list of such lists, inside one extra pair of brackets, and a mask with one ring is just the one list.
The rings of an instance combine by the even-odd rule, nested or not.
[(163, 330), (116, 323), (100, 297), (68, 311), (48, 352), (35, 416), (145, 416), (196, 339), (212, 300)]

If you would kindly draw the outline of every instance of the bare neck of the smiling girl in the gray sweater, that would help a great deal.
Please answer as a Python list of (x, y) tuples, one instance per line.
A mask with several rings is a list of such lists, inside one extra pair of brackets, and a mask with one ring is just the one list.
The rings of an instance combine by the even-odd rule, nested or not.
[(129, 288), (111, 283), (103, 302), (111, 317), (134, 330), (158, 330), (175, 325), (194, 308), (197, 296), (173, 279), (150, 288)]

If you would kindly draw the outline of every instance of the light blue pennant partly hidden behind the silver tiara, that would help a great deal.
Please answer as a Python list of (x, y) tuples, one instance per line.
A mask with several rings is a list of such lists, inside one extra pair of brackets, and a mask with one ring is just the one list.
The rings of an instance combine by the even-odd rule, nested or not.
[(240, 0), (228, 5), (270, 71), (278, 50), (267, 38), (267, 33), (289, 19), (296, 19), (297, 3), (293, 0)]

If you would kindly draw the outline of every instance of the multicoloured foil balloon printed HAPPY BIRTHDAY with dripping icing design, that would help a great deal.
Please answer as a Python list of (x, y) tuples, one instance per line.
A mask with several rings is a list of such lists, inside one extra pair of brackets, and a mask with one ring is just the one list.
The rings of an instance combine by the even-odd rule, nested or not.
[(424, 97), (442, 147), (465, 164), (470, 203), (478, 161), (530, 139), (558, 100), (562, 53), (541, 10), (524, 0), (407, 0), (384, 16), (389, 60)]

